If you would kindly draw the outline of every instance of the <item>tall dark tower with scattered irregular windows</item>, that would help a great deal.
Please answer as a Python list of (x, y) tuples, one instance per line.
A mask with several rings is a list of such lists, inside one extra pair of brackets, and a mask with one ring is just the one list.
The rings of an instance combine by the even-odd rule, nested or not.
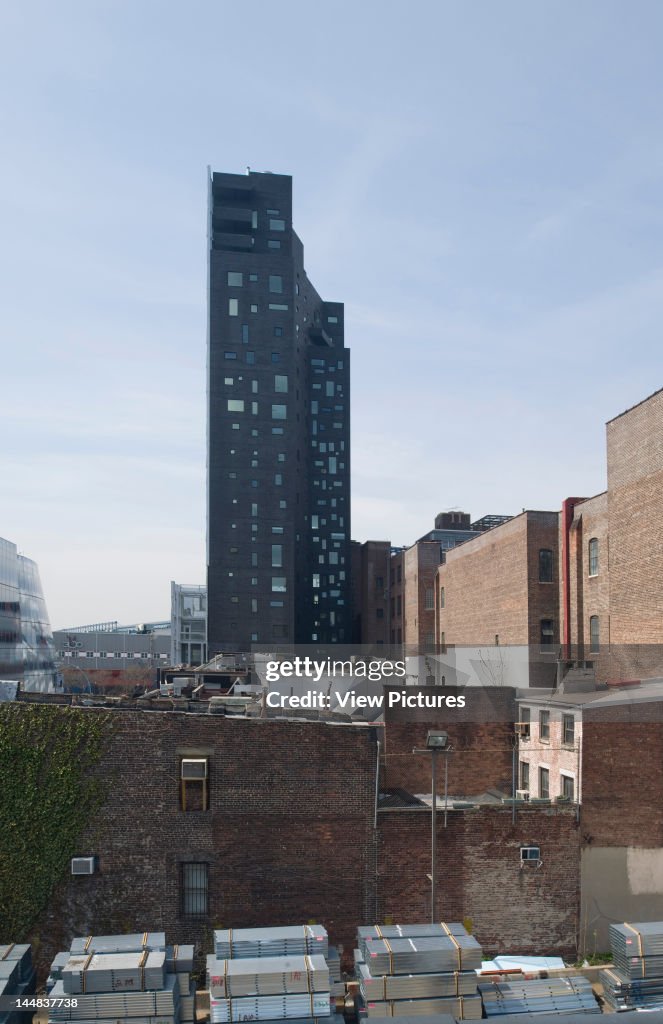
[(208, 208), (208, 649), (348, 643), (349, 351), (306, 276), (292, 178)]

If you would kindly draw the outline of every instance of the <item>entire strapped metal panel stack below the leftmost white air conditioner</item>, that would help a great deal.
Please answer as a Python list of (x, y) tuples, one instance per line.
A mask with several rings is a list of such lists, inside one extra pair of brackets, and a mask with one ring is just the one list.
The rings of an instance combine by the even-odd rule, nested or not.
[(166, 946), (163, 932), (77, 938), (50, 969), (49, 1024), (193, 1024), (193, 946)]

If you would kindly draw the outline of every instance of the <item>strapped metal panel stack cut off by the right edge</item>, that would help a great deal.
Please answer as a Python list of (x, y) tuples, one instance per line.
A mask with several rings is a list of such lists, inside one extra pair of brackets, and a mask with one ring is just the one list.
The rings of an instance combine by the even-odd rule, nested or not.
[(598, 974), (614, 1010), (663, 1008), (663, 922), (610, 926), (614, 968)]

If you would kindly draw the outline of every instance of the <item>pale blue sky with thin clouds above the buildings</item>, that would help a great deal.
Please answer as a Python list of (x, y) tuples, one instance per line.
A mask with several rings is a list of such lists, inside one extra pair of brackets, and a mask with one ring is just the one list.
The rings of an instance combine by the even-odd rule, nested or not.
[(0, 536), (51, 624), (205, 582), (206, 168), (345, 303), (353, 537), (606, 486), (663, 385), (659, 0), (0, 9)]

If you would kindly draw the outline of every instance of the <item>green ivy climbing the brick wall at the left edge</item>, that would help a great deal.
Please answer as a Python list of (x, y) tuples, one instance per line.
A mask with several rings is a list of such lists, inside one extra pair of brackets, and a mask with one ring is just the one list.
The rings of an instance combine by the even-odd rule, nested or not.
[(0, 705), (0, 942), (25, 940), (103, 802), (113, 715)]

